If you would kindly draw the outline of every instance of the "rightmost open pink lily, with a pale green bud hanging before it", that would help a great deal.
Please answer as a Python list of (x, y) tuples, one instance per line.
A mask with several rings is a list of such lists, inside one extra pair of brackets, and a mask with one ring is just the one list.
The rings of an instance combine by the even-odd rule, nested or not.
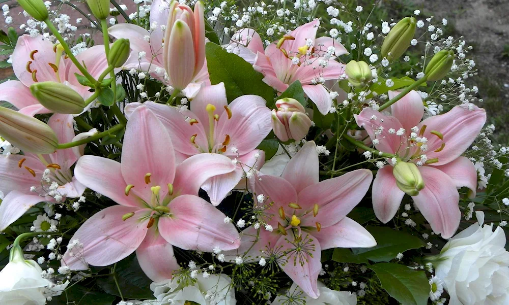
[[(398, 93), (389, 91), (389, 97)], [(391, 115), (364, 108), (355, 116), (378, 150), (397, 155), (398, 162), (418, 165), (424, 187), (412, 199), (433, 231), (444, 239), (453, 236), (460, 223), (457, 188), (468, 187), (475, 197), (477, 173), (461, 154), (483, 128), (486, 112), (470, 107), (456, 106), (421, 122), (424, 105), (420, 95), (411, 91), (391, 106)], [(383, 223), (394, 217), (405, 195), (396, 184), (393, 168), (386, 165), (378, 170), (373, 183), (373, 208)]]

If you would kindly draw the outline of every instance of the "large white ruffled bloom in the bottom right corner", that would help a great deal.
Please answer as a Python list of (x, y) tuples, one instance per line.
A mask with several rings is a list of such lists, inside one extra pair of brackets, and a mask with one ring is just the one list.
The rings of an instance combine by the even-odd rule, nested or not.
[(477, 223), (450, 239), (436, 256), (436, 276), (445, 283), (449, 305), (509, 304), (509, 252), (505, 233), (493, 224)]

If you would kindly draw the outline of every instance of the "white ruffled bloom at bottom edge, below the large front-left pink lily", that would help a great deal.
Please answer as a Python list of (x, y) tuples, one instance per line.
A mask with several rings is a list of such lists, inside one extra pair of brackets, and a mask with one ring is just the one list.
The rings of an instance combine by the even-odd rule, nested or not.
[(156, 297), (153, 301), (144, 301), (142, 304), (174, 304), (184, 305), (192, 300), (200, 305), (234, 305), (235, 292), (231, 286), (232, 279), (221, 274), (211, 274), (207, 277), (197, 277), (196, 282), (189, 286), (177, 283), (178, 277), (160, 283), (152, 283), (150, 289)]

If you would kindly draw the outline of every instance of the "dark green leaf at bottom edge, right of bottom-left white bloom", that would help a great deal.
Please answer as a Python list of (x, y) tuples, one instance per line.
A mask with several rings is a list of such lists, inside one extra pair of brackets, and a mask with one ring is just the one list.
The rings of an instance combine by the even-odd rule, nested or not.
[[(48, 305), (111, 305), (115, 296), (104, 292), (92, 290), (79, 285), (74, 285), (60, 296), (53, 297), (53, 300), (47, 302)], [(69, 302), (68, 302), (69, 301)]]

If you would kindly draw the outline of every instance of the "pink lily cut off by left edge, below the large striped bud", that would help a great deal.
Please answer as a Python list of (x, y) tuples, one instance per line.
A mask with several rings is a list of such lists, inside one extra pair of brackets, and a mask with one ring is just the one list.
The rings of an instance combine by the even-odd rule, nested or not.
[[(54, 114), (48, 125), (59, 142), (79, 139), (74, 137), (73, 116)], [(48, 155), (0, 155), (0, 191), (6, 196), (0, 205), (0, 231), (20, 218), (32, 206), (43, 201), (64, 201), (76, 198), (85, 187), (72, 176), (71, 166), (79, 158), (75, 150), (56, 150)], [(56, 185), (51, 186), (52, 182)]]

